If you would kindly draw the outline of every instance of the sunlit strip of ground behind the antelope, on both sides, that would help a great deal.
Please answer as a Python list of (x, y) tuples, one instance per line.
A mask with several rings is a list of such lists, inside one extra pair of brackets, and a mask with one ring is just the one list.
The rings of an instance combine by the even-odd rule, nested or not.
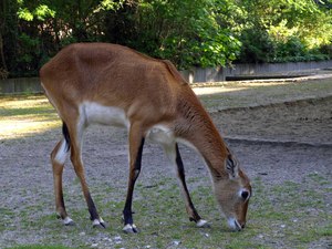
[[(194, 92), (209, 112), (332, 95), (332, 79), (301, 82), (219, 82)], [(0, 96), (0, 139), (41, 134), (61, 126), (44, 95)]]

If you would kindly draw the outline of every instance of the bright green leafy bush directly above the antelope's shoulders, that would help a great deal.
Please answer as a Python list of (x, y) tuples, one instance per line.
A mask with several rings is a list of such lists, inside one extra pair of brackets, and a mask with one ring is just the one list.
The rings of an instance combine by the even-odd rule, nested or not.
[[(218, 1), (221, 2), (227, 3)], [(141, 1), (137, 12), (149, 18), (141, 19), (139, 31), (152, 35), (147, 40), (157, 41), (153, 54), (172, 60), (179, 69), (226, 65), (235, 60), (240, 43), (230, 35), (229, 29), (218, 23), (220, 18), (215, 3), (209, 0), (156, 0), (148, 4)], [(149, 24), (152, 18), (153, 25)]]

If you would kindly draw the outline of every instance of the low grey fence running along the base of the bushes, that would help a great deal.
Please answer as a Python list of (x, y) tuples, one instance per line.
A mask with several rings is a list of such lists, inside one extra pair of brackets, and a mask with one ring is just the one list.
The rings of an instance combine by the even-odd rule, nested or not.
[[(332, 69), (332, 61), (235, 64), (232, 68), (193, 68), (180, 73), (189, 83), (220, 82), (236, 79), (293, 76)], [(0, 80), (0, 94), (41, 93), (39, 77)]]

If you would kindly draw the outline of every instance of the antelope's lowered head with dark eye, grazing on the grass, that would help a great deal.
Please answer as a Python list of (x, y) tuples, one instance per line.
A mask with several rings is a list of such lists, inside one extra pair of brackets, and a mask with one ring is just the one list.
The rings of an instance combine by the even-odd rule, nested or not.
[(251, 185), (231, 154), (225, 160), (225, 170), (227, 174), (222, 177), (214, 177), (216, 198), (229, 227), (240, 231), (246, 226)]

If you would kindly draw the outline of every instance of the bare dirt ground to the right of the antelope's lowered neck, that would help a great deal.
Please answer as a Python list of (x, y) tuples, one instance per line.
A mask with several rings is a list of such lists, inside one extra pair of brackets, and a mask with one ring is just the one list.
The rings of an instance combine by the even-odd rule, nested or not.
[(281, 184), (314, 172), (332, 176), (332, 97), (228, 110), (212, 118), (251, 177)]

